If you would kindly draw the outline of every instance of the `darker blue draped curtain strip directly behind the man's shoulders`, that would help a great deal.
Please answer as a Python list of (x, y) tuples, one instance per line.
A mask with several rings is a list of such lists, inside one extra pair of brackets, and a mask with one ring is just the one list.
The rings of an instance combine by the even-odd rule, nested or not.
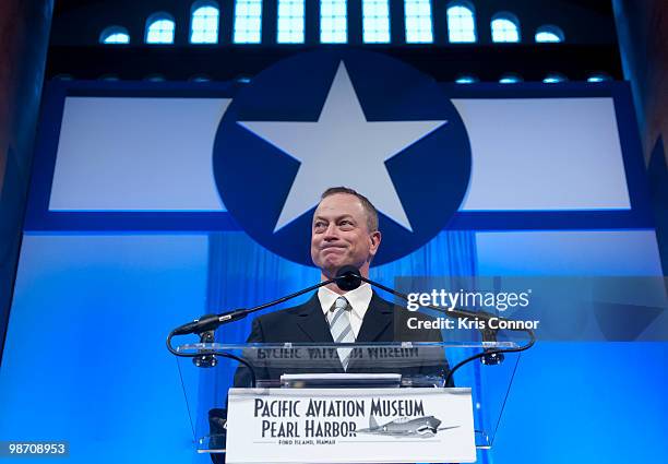
[[(308, 247), (309, 243), (296, 246)], [(382, 245), (381, 245), (382, 246)], [(264, 249), (246, 233), (216, 233), (210, 235), (208, 292), (210, 312), (222, 312), (237, 308), (249, 308), (289, 293), (297, 292), (320, 281), (315, 267), (296, 264)], [(425, 247), (411, 254), (371, 269), (370, 277), (394, 287), (395, 276), (448, 276), (475, 275), (476, 246), (473, 231), (442, 231)], [(305, 295), (282, 305), (295, 306), (307, 300)], [(278, 307), (279, 308), (279, 307)], [(264, 310), (275, 311), (278, 308)], [(250, 331), (252, 318), (220, 328), (216, 341), (242, 343)], [(234, 366), (229, 367), (234, 369)], [(229, 380), (230, 372), (222, 370)], [(226, 373), (229, 373), (226, 376)], [(225, 384), (218, 385), (225, 391)]]

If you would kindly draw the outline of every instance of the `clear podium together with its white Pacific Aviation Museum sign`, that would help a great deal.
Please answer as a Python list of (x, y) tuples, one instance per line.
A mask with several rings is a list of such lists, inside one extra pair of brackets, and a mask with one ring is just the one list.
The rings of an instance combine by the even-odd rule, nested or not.
[[(521, 354), (506, 354), (505, 360), (496, 365), (469, 362), (458, 369), (454, 376), (454, 383), (461, 388), (444, 389), (446, 370), (443, 370), (446, 360), (455, 366), (461, 360), (475, 353), (490, 348), (514, 348), (514, 342), (486, 342), (486, 343), (356, 343), (351, 344), (351, 361), (346, 372), (343, 371), (337, 349), (345, 344), (296, 344), (296, 343), (253, 343), (253, 344), (222, 344), (196, 343), (181, 345), (179, 353), (196, 355), (179, 357), (179, 377), (183, 385), (186, 404), (191, 419), (193, 441), (199, 453), (228, 453), (227, 464), (241, 462), (313, 462), (313, 463), (344, 463), (344, 462), (402, 462), (398, 456), (410, 453), (410, 459), (404, 462), (467, 462), (473, 460), (472, 451), (462, 451), (462, 454), (443, 457), (442, 453), (454, 453), (458, 447), (469, 450), (468, 432), (464, 439), (458, 433), (465, 430), (464, 413), (460, 413), (460, 402), (470, 420), (473, 415), (473, 429), (475, 430), (475, 445), (478, 450), (488, 450), (493, 445), (496, 432), (503, 414), (505, 404), (512, 398), (511, 385), (518, 367)], [(244, 360), (243, 365), (230, 360), (229, 356)], [(202, 362), (202, 360), (216, 359), (218, 362)], [(195, 367), (200, 366), (200, 367)], [(208, 366), (208, 367), (205, 367)], [(345, 377), (341, 379), (341, 377)], [(240, 388), (257, 386), (255, 390)], [(397, 388), (398, 386), (398, 388)], [(382, 388), (382, 389), (381, 389)], [(317, 391), (313, 391), (314, 389)], [(329, 390), (327, 390), (329, 389)], [(381, 390), (379, 390), (381, 389)], [(365, 393), (367, 392), (367, 393)], [(229, 393), (229, 397), (228, 397)], [(323, 396), (330, 395), (330, 396)], [(375, 396), (373, 396), (375, 395)], [(363, 412), (355, 417), (338, 417), (336, 415), (319, 416), (313, 413), (307, 416), (299, 411), (300, 417), (274, 417), (271, 408), (270, 416), (261, 411), (255, 416), (254, 400), (288, 398), (299, 400), (299, 408), (309, 406), (310, 398), (320, 400), (360, 400), (366, 401)], [(373, 420), (378, 426), (386, 426), (394, 420), (407, 417), (407, 420), (422, 416), (434, 416), (440, 420), (438, 428), (460, 426), (456, 429), (437, 430), (434, 438), (427, 437), (430, 432), (429, 423), (419, 430), (422, 435), (410, 438), (396, 438), (392, 435), (359, 432), (362, 429), (372, 429), (371, 398), (421, 398), (424, 412), (416, 408), (416, 414), (407, 409), (374, 414)], [(365, 400), (367, 398), (367, 400)], [(441, 403), (442, 402), (442, 403)], [(451, 404), (452, 403), (452, 404)], [(470, 403), (475, 405), (472, 409)], [(278, 407), (281, 403), (275, 403)], [(283, 403), (281, 407), (288, 407), (291, 403)], [(259, 406), (263, 405), (258, 403)], [(285, 406), (287, 405), (287, 406)], [(319, 411), (319, 409), (318, 409)], [(375, 409), (373, 409), (375, 413)], [(334, 412), (335, 413), (335, 412)], [(424, 414), (422, 414), (424, 413)], [(284, 414), (283, 412), (279, 414)], [(329, 413), (327, 413), (329, 414)], [(322, 421), (355, 423), (356, 437), (306, 437), (306, 420), (318, 419)], [(453, 424), (453, 420), (457, 420)], [(458, 423), (462, 419), (461, 424)], [(263, 420), (269, 427), (262, 436)], [(285, 425), (284, 437), (272, 437), (272, 420), (279, 427), (285, 423), (299, 425), (299, 437), (289, 437)], [(332, 426), (331, 430), (335, 430)], [(469, 426), (467, 426), (469, 427)], [(389, 427), (389, 430), (394, 427)], [(470, 427), (468, 428), (470, 430)], [(342, 429), (339, 428), (339, 433)], [(379, 430), (377, 430), (379, 431)], [(276, 435), (282, 433), (278, 429)], [(309, 431), (310, 433), (310, 431)], [(416, 429), (416, 433), (418, 433)], [(313, 444), (306, 442), (313, 439)], [(293, 440), (293, 443), (278, 444), (278, 440)], [(317, 440), (332, 439), (336, 443), (324, 442), (318, 444)], [(452, 439), (452, 444), (451, 444)], [(271, 441), (271, 444), (269, 442)], [(351, 441), (355, 440), (355, 441)], [(382, 447), (378, 443), (382, 441)], [(259, 443), (254, 443), (258, 441)], [(269, 444), (262, 444), (266, 441)], [(299, 441), (299, 445), (296, 445)], [(362, 450), (362, 441), (370, 444), (373, 455), (361, 459), (367, 450)], [(439, 442), (439, 445), (430, 443)], [(387, 448), (390, 447), (390, 448)], [(250, 450), (252, 448), (252, 450)], [(407, 448), (408, 450), (403, 450)], [(438, 450), (432, 450), (438, 448)], [(264, 453), (271, 449), (271, 459), (266, 455), (251, 455), (249, 453)], [(395, 450), (396, 449), (396, 450)], [(336, 459), (339, 452), (355, 453), (355, 460)], [(425, 453), (418, 459), (416, 452)], [(385, 457), (385, 453), (391, 459)], [(438, 457), (433, 457), (433, 453)], [(269, 453), (269, 451), (266, 451)], [(326, 455), (326, 456), (325, 456)], [(278, 456), (283, 461), (279, 460)], [(345, 454), (348, 456), (348, 454)], [(325, 459), (326, 457), (326, 459)], [(257, 461), (253, 461), (257, 460)], [(320, 460), (320, 461), (318, 461)], [(347, 460), (347, 461), (346, 461)]]

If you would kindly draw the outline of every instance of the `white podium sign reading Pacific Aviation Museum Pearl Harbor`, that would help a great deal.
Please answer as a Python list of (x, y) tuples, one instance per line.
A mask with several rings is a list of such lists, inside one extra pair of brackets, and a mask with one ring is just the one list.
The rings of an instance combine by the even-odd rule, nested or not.
[(476, 461), (472, 392), (230, 389), (227, 464)]

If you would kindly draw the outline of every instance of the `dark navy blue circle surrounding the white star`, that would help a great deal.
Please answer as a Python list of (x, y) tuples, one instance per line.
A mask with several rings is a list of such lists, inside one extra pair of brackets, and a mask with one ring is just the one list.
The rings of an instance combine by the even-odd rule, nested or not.
[[(431, 240), (460, 207), (470, 178), (466, 128), (430, 76), (360, 50), (322, 50), (278, 62), (253, 78), (227, 108), (214, 142), (214, 176), (225, 206), (255, 241), (306, 265), (313, 265), (315, 206), (274, 233), (300, 163), (237, 121), (318, 121), (342, 60), (367, 120), (448, 121), (384, 163), (413, 231), (379, 211), (382, 242), (373, 264), (403, 258)], [(327, 187), (339, 185), (334, 171)]]

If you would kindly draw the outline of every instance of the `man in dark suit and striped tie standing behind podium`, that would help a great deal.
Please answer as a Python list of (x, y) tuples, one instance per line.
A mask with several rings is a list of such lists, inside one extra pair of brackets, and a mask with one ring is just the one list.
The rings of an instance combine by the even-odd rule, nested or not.
[[(354, 265), (369, 276), (369, 266), (381, 243), (378, 212), (371, 202), (355, 190), (327, 189), (313, 214), (311, 259), (321, 270), (321, 279), (330, 279), (344, 265)], [(440, 342), (440, 331), (408, 330), (408, 318), (428, 317), (408, 312), (379, 297), (369, 284), (345, 292), (336, 284), (321, 287), (303, 305), (255, 318), (248, 343), (378, 343)], [(392, 366), (370, 368), (357, 359), (353, 350), (338, 350), (333, 362), (311, 367), (311, 371), (392, 372)], [(402, 374), (442, 374), (448, 369), (444, 357), (438, 366), (404, 367)], [(290, 371), (284, 370), (284, 371)], [(279, 377), (279, 369), (259, 371), (270, 378)], [(237, 378), (235, 383), (242, 380)]]

